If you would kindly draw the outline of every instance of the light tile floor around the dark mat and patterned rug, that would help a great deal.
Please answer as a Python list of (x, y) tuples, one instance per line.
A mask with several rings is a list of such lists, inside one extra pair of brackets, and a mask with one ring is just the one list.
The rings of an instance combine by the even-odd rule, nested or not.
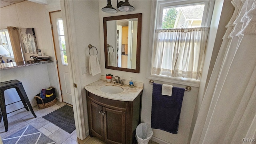
[[(65, 132), (58, 126), (55, 126), (51, 122), (48, 122), (42, 116), (53, 112), (54, 110), (64, 106), (66, 103), (57, 102), (54, 106), (49, 108), (40, 109), (38, 106), (34, 106), (33, 110), (36, 114), (36, 118), (32, 115), (30, 111), (24, 111), (8, 117), (8, 131), (5, 132), (4, 122), (0, 122), (0, 137), (1, 139), (21, 130), (22, 128), (32, 125), (34, 128), (42, 132), (44, 135), (48, 136), (56, 142), (56, 144), (105, 144), (104, 142), (98, 140), (96, 137), (87, 136), (84, 140), (79, 140), (76, 137), (76, 130), (69, 134)], [(150, 140), (148, 144), (157, 144)]]

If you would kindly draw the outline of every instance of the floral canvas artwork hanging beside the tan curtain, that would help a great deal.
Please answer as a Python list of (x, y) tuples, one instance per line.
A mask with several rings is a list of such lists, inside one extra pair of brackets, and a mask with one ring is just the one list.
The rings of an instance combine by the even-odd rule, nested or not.
[(20, 33), (25, 53), (37, 54), (38, 48), (34, 28), (21, 28)]

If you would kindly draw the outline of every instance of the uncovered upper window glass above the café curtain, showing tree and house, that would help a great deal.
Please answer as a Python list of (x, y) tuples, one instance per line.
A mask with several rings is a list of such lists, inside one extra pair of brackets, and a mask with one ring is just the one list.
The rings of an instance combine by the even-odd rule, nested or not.
[(200, 27), (204, 4), (164, 8), (162, 29)]

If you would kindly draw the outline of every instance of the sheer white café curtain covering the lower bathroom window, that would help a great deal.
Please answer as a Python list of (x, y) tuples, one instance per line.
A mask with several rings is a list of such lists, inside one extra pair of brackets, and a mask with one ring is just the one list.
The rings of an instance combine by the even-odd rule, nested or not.
[(152, 74), (200, 78), (209, 27), (156, 30)]

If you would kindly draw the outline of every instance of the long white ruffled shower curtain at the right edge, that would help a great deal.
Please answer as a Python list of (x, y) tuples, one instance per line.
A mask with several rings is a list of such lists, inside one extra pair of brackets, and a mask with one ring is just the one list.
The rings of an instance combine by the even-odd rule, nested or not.
[(232, 4), (191, 144), (256, 142), (256, 0)]

